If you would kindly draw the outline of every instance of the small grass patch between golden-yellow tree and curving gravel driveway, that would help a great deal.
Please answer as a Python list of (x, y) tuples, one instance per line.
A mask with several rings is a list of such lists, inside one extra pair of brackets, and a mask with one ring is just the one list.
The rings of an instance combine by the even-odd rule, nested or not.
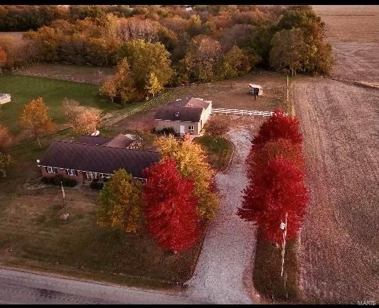
[(224, 171), (228, 167), (233, 153), (233, 145), (224, 137), (209, 135), (194, 138), (195, 143), (202, 145), (207, 152), (209, 164), (217, 171)]

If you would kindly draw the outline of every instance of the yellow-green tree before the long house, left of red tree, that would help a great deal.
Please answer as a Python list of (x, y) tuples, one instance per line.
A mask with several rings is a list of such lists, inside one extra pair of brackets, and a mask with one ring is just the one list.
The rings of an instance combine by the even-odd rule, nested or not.
[(119, 169), (99, 194), (101, 209), (97, 224), (107, 228), (136, 232), (143, 221), (142, 185), (132, 182), (131, 175)]

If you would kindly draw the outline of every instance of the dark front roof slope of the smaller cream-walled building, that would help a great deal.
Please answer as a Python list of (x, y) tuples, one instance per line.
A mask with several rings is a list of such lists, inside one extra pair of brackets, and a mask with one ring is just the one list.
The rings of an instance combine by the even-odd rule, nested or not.
[[(162, 106), (158, 108), (154, 119), (199, 122), (202, 111), (202, 108)], [(175, 116), (175, 113), (178, 113), (178, 116)]]

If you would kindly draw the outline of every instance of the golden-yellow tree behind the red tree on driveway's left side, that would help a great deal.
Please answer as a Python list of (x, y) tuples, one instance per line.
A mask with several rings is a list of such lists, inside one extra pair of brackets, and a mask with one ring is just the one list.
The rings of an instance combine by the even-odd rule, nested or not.
[(197, 214), (212, 219), (219, 208), (219, 198), (212, 189), (214, 170), (207, 163), (201, 146), (191, 141), (177, 141), (173, 136), (163, 136), (155, 141), (164, 158), (174, 158), (182, 177), (194, 180), (194, 194), (199, 199)]

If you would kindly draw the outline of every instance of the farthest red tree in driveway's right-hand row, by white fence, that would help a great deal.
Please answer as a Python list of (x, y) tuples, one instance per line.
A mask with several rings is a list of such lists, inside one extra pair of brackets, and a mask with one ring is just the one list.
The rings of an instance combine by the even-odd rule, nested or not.
[(267, 141), (279, 138), (289, 139), (292, 143), (302, 143), (299, 121), (292, 116), (285, 116), (280, 109), (275, 109), (273, 116), (260, 126), (253, 144), (262, 146)]

